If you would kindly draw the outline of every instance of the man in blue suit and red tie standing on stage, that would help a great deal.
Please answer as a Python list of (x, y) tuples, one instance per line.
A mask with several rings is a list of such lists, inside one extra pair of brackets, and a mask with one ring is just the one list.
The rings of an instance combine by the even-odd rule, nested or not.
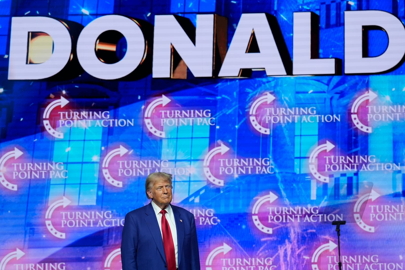
[(171, 205), (172, 175), (147, 176), (151, 203), (125, 217), (122, 230), (122, 270), (200, 270), (194, 215)]

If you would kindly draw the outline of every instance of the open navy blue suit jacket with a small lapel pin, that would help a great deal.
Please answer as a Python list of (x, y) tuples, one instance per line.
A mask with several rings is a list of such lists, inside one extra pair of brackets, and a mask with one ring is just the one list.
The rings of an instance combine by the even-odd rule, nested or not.
[[(196, 223), (189, 211), (171, 205), (177, 229), (179, 270), (200, 270)], [(162, 234), (151, 203), (125, 216), (121, 241), (122, 270), (165, 270)]]

